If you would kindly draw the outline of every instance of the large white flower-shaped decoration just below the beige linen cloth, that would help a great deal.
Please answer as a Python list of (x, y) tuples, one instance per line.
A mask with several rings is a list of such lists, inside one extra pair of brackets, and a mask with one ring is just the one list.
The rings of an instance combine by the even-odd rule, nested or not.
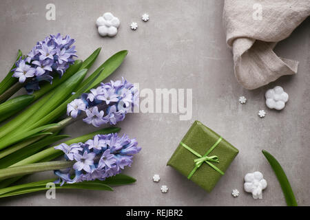
[(289, 100), (289, 95), (279, 86), (274, 87), (273, 89), (268, 89), (265, 97), (269, 109), (282, 110), (285, 107), (285, 103)]

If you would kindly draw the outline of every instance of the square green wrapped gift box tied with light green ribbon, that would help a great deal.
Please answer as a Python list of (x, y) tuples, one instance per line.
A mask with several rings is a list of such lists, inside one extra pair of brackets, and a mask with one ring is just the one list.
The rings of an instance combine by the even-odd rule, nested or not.
[(195, 121), (167, 165), (211, 192), (238, 153), (223, 137)]

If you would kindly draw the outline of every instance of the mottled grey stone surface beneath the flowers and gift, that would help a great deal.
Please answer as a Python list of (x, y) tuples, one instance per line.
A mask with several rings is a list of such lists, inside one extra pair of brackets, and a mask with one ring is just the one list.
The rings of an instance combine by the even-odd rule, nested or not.
[[(56, 21), (45, 19), (45, 5), (56, 5)], [(97, 67), (119, 50), (129, 50), (125, 62), (110, 79), (124, 76), (140, 89), (192, 88), (192, 120), (180, 121), (178, 113), (134, 113), (118, 124), (121, 133), (136, 137), (143, 150), (124, 173), (136, 177), (131, 186), (114, 192), (57, 190), (56, 199), (37, 192), (0, 199), (1, 206), (285, 206), (280, 185), (262, 148), (272, 153), (289, 177), (298, 203), (310, 205), (310, 20), (278, 43), (276, 53), (300, 61), (296, 76), (285, 76), (266, 87), (248, 91), (234, 77), (231, 51), (222, 25), (223, 1), (196, 0), (93, 0), (93, 1), (0, 1), (0, 66), (2, 79), (17, 50), (24, 53), (48, 34), (70, 34), (76, 39), (80, 58), (97, 47), (103, 50)], [(99, 36), (95, 21), (103, 12), (121, 19), (114, 38)], [(141, 21), (147, 12), (149, 21)], [(138, 30), (130, 29), (132, 21)], [(91, 70), (94, 69), (92, 67)], [(90, 71), (91, 72), (91, 71)], [(265, 91), (281, 85), (290, 96), (284, 110), (265, 106)], [(245, 96), (247, 104), (238, 103)], [(258, 111), (265, 109), (264, 119)], [(200, 120), (240, 150), (213, 192), (207, 193), (166, 166), (178, 142), (194, 120)], [(65, 133), (76, 137), (95, 129), (76, 122)], [(246, 173), (260, 170), (268, 181), (263, 199), (254, 200), (242, 190)], [(154, 183), (158, 173), (161, 181)], [(23, 182), (52, 177), (52, 172), (32, 175)], [(161, 193), (161, 185), (169, 192)], [(237, 188), (240, 196), (231, 196)]]

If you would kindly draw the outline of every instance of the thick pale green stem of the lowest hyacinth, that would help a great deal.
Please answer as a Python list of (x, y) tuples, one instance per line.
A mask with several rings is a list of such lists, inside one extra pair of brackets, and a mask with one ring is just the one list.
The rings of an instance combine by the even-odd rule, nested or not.
[(53, 161), (4, 168), (0, 169), (0, 180), (48, 170), (61, 170), (63, 168), (70, 168), (74, 163), (75, 161)]

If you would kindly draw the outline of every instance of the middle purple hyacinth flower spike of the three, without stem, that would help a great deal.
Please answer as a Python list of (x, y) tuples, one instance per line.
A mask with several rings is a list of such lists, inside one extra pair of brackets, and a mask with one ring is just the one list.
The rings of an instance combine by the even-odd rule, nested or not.
[(83, 122), (94, 126), (110, 123), (115, 125), (138, 106), (138, 90), (127, 80), (101, 83), (89, 94), (83, 94), (68, 104), (67, 114), (72, 118), (80, 116)]

